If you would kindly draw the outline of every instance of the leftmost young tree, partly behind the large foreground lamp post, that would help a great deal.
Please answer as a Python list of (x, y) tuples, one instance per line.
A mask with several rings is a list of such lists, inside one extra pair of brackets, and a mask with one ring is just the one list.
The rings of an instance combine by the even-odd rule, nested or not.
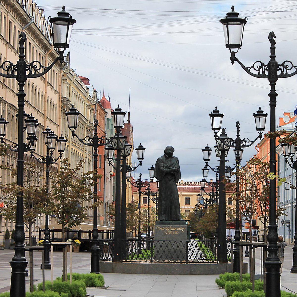
[[(16, 177), (17, 171), (12, 167), (5, 168), (12, 178)], [(43, 168), (35, 163), (24, 163), (24, 186), (20, 187), (15, 182), (1, 187), (2, 195), (5, 197), (3, 213), (7, 219), (15, 221), (16, 199), (18, 192), (23, 191), (23, 218), (24, 225), (29, 230), (29, 246), (32, 245), (32, 226), (45, 211), (47, 201), (46, 184), (43, 177)]]

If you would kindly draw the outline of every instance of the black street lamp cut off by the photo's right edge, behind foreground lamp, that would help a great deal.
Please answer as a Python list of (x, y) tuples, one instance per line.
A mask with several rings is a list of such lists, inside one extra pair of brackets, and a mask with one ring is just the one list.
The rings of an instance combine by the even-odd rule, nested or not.
[[(290, 143), (282, 143), (281, 146), (282, 146), (286, 163), (288, 163), (291, 168), (295, 169), (295, 172), (296, 172), (295, 180), (297, 184), (297, 160), (294, 160), (297, 147)], [(295, 191), (295, 201), (297, 201), (296, 198), (297, 198), (297, 190)], [(296, 220), (297, 220), (297, 211), (295, 208), (295, 233), (294, 233), (294, 247), (293, 247), (293, 265), (291, 268), (291, 273), (297, 273), (297, 221)], [(290, 221), (282, 220), (282, 225), (289, 225), (289, 224), (290, 224)], [(289, 229), (290, 229), (290, 225), (289, 225)]]

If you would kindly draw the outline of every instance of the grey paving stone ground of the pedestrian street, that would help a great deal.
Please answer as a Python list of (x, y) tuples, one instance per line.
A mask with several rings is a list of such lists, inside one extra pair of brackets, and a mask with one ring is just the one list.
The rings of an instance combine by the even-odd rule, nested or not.
[[(292, 267), (293, 246), (285, 248), (284, 268), (281, 276), (281, 289), (297, 292), (297, 274), (290, 274)], [(68, 254), (69, 255), (69, 254)], [(73, 253), (72, 271), (89, 273), (91, 254)], [(10, 290), (11, 268), (9, 261), (12, 250), (0, 250), (0, 293)], [(62, 253), (54, 252), (54, 279), (61, 276)], [(29, 258), (29, 254), (26, 253)], [(28, 260), (28, 259), (27, 259)], [(248, 258), (244, 258), (248, 262)], [(34, 284), (42, 281), (40, 270), (41, 252), (34, 252)], [(69, 263), (68, 263), (69, 264)], [(199, 265), (199, 264), (197, 264)], [(256, 249), (255, 273), (260, 274), (260, 249)], [(29, 265), (28, 265), (29, 267)], [(68, 271), (69, 272), (69, 271)], [(223, 297), (225, 290), (215, 284), (218, 275), (152, 275), (152, 274), (113, 274), (102, 273), (105, 289), (88, 288), (94, 297)], [(45, 271), (45, 279), (50, 280), (50, 271)], [(29, 277), (26, 278), (29, 290)]]

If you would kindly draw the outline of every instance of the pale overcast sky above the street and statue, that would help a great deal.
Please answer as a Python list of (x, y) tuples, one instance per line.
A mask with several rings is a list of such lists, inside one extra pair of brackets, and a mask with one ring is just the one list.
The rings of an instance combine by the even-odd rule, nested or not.
[[(241, 137), (257, 137), (253, 113), (259, 106), (268, 113), (266, 79), (253, 78), (238, 63), (232, 66), (230, 52), (219, 20), (230, 7), (247, 17), (243, 45), (236, 54), (245, 66), (269, 61), (268, 34), (276, 35), (276, 56), (281, 64), (297, 64), (297, 1), (223, 0), (36, 0), (45, 16), (55, 16), (61, 6), (77, 20), (70, 42), (71, 67), (88, 77), (98, 91), (110, 96), (113, 108), (128, 111), (134, 146), (146, 148), (142, 172), (164, 153), (175, 148), (181, 177), (187, 181), (202, 178), (201, 149), (215, 140), (208, 114), (218, 107), (225, 113), (222, 127), (236, 137), (240, 121)], [(50, 3), (50, 4), (49, 4)], [(276, 90), (277, 123), (284, 111), (296, 105), (296, 77), (279, 79)], [(127, 119), (126, 119), (127, 121)], [(243, 160), (256, 153), (244, 150)], [(137, 161), (134, 151), (132, 159)], [(228, 160), (233, 165), (234, 153)], [(214, 151), (212, 166), (218, 165)], [(214, 174), (209, 173), (209, 177)]]

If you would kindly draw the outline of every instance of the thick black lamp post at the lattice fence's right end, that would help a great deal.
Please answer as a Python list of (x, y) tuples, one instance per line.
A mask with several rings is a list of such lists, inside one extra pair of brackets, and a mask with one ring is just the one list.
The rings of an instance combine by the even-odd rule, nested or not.
[[(221, 138), (228, 138), (225, 133), (225, 129), (222, 129)], [(226, 242), (226, 185), (225, 185), (225, 177), (230, 176), (232, 170), (230, 166), (226, 166), (226, 157), (229, 152), (229, 147), (225, 146), (224, 143), (219, 142), (216, 139), (217, 145), (214, 146), (216, 156), (219, 158), (219, 166), (215, 166), (211, 168), (208, 164), (210, 161), (211, 151), (212, 149), (206, 145), (204, 149), (202, 149), (203, 160), (206, 163), (205, 167), (209, 167), (213, 172), (219, 173), (219, 203), (218, 203), (218, 246), (217, 246), (217, 255), (219, 263), (227, 263), (227, 242)], [(203, 175), (207, 176), (207, 170), (203, 170)], [(205, 186), (206, 180), (203, 178), (202, 185)], [(200, 181), (201, 184), (201, 181)]]

